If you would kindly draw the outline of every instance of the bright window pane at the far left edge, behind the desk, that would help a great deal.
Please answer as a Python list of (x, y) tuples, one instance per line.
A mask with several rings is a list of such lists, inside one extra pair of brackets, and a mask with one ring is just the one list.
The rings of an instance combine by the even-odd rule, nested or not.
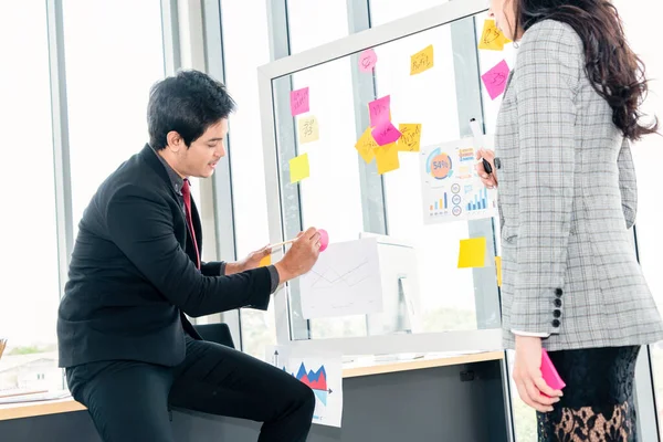
[[(28, 378), (42, 359), (51, 389), (62, 388), (55, 322), (59, 269), (51, 131), (51, 90), (45, 2), (0, 2), (0, 53), (14, 61), (0, 70), (0, 122), (3, 128), (6, 232), (0, 266), (0, 390), (34, 388)], [(17, 44), (21, 42), (21, 44)], [(20, 62), (19, 62), (20, 61)], [(43, 370), (42, 370), (43, 371)], [(22, 379), (29, 379), (22, 382)], [(43, 387), (43, 385), (42, 385)]]

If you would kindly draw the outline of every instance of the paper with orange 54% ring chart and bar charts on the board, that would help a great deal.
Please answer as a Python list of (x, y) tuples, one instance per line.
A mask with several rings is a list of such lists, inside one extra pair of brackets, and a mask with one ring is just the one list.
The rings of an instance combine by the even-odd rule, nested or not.
[(478, 148), (492, 148), (492, 137), (483, 136), (478, 140), (462, 138), (422, 148), (424, 224), (477, 220), (496, 214), (497, 193), (485, 188), (474, 167)]

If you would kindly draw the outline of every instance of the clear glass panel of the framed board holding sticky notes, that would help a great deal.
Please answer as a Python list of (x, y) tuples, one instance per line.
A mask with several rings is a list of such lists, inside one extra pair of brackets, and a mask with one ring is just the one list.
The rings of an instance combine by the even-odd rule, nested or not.
[[(466, 17), (368, 48), (377, 61), (375, 69), (366, 72), (361, 63), (368, 54), (362, 50), (272, 81), (276, 150), (271, 155), (276, 156), (278, 169), (277, 215), (284, 236), (290, 239), (312, 225), (327, 230), (333, 244), (372, 233), (386, 242), (407, 244), (417, 263), (415, 281), (407, 284), (417, 305), (417, 327), (375, 327), (372, 313), (307, 317), (299, 281), (293, 281), (287, 308), (294, 339), (499, 326), (494, 260), (498, 220), (485, 217), (430, 223), (425, 212), (433, 210), (433, 202), (425, 200), (422, 191), (423, 151), (471, 138), (470, 116), (483, 123), (486, 133), (492, 131), (501, 97), (492, 99), (481, 77), (503, 60), (512, 65), (513, 49), (478, 50), (485, 20), (485, 13)], [(412, 74), (412, 55), (430, 45), (432, 66)], [(290, 94), (304, 88), (308, 107), (293, 116)], [(370, 126), (369, 104), (386, 96), (397, 128), (400, 124), (421, 125), (421, 151), (400, 151), (398, 168), (378, 173), (377, 159), (367, 164), (355, 146)], [(295, 99), (299, 97), (295, 95)], [(308, 175), (291, 182), (291, 160), (303, 155)], [(444, 204), (442, 200), (439, 203)], [(461, 241), (476, 238), (485, 238), (485, 264), (459, 269)], [(385, 296), (401, 296), (402, 291), (386, 290)], [(408, 324), (398, 318), (408, 314), (407, 308), (400, 311), (399, 299), (382, 301), (386, 309), (378, 318), (389, 318), (391, 324), (396, 317), (396, 323)], [(393, 308), (397, 311), (390, 311)]]

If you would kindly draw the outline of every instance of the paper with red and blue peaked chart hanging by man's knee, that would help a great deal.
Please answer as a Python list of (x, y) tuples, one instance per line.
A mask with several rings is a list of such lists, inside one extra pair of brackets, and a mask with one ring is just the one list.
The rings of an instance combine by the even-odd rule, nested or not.
[(303, 354), (287, 346), (267, 346), (266, 361), (311, 387), (315, 394), (313, 423), (340, 427), (343, 357), (340, 352)]

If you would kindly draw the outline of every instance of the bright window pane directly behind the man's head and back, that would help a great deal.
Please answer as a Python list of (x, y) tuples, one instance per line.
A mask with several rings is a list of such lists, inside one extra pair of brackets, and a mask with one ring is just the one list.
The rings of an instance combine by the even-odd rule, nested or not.
[(148, 140), (149, 88), (164, 77), (161, 9), (159, 0), (65, 0), (63, 14), (77, 225), (101, 182)]

